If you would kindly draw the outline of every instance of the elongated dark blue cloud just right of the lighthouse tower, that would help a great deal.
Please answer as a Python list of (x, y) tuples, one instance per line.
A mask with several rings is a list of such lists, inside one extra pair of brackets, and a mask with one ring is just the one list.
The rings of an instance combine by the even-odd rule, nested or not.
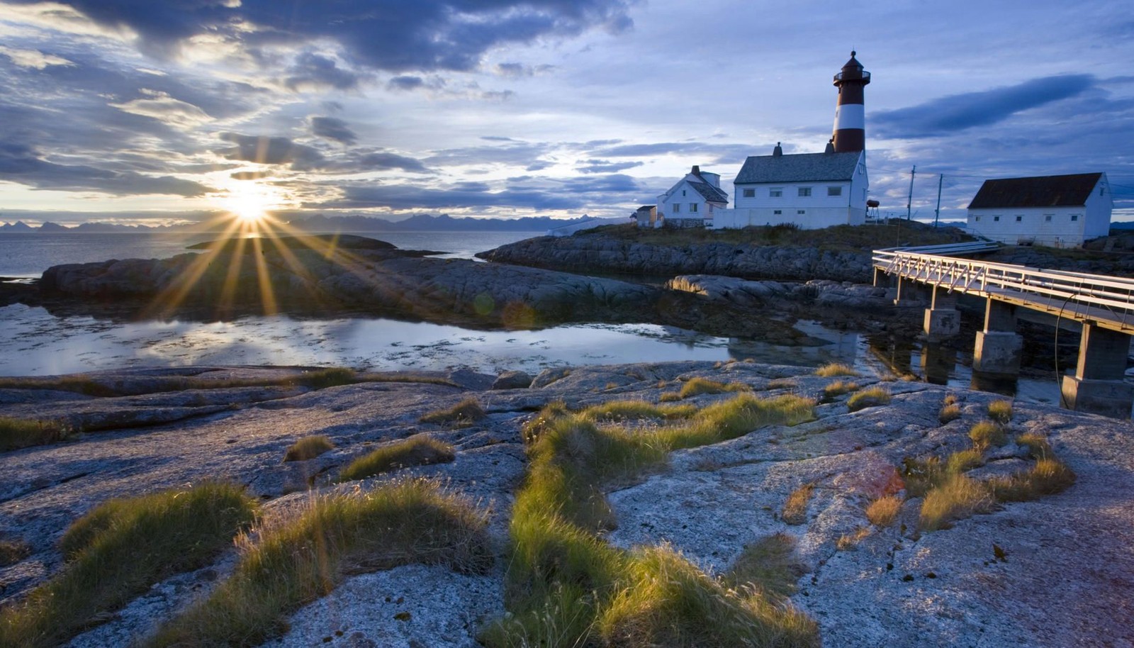
[(874, 112), (870, 127), (880, 137), (937, 137), (1004, 121), (1013, 115), (1070, 99), (1095, 86), (1091, 75), (1060, 75), (983, 92), (942, 96), (919, 106)]

